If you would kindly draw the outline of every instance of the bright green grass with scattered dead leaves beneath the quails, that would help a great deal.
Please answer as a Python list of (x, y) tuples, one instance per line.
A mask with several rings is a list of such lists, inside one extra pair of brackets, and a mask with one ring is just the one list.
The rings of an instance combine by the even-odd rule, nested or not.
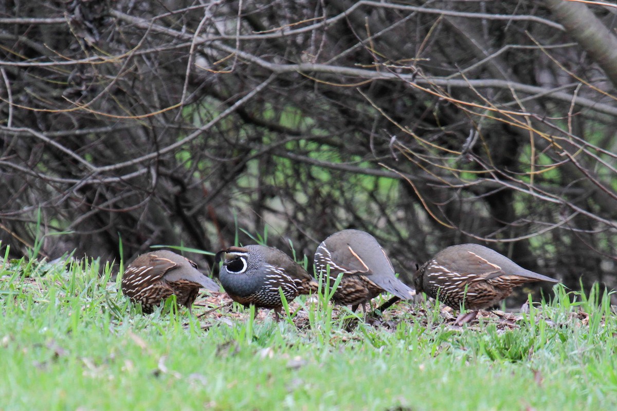
[(237, 307), (202, 319), (184, 309), (144, 316), (99, 268), (0, 261), (0, 409), (617, 406), (617, 322), (597, 290), (556, 288), (553, 303), (512, 327), (484, 320), (459, 330), (430, 304), (402, 303), (383, 324), (347, 332), (355, 316), (324, 298), (300, 299), (279, 323)]

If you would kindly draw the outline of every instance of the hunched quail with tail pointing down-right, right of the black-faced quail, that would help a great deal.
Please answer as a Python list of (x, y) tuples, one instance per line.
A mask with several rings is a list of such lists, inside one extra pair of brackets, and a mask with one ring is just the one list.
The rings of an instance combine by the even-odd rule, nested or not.
[(360, 230), (342, 230), (323, 240), (315, 251), (315, 271), (321, 272), (322, 280), (328, 275), (332, 287), (339, 274), (343, 274), (332, 297), (334, 303), (352, 306), (356, 311), (383, 291), (409, 299), (415, 295), (394, 276), (394, 268), (386, 251), (375, 237)]

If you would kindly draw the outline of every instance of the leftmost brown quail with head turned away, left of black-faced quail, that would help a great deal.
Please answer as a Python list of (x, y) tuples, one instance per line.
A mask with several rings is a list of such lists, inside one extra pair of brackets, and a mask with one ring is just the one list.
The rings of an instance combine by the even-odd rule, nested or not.
[(145, 314), (171, 295), (191, 312), (200, 287), (219, 290), (214, 280), (197, 270), (197, 264), (168, 250), (141, 254), (122, 275), (122, 292), (140, 303)]

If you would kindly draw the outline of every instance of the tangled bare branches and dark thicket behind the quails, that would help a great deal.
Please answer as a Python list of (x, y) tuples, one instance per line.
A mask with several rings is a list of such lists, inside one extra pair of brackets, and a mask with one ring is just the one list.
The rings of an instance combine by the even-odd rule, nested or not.
[(613, 288), (616, 23), (556, 0), (2, 2), (2, 246), (118, 261), (240, 228), (312, 259), (356, 228), (404, 279), (479, 242)]

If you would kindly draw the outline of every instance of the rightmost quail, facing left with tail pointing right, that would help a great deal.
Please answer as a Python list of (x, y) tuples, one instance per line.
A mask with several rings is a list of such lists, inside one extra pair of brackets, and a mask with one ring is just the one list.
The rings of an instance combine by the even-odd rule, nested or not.
[(512, 288), (526, 282), (559, 282), (518, 266), (497, 251), (479, 244), (453, 245), (439, 251), (413, 276), (416, 291), (458, 309), (472, 310), (458, 316), (460, 325), (476, 318), (479, 309), (506, 298)]

